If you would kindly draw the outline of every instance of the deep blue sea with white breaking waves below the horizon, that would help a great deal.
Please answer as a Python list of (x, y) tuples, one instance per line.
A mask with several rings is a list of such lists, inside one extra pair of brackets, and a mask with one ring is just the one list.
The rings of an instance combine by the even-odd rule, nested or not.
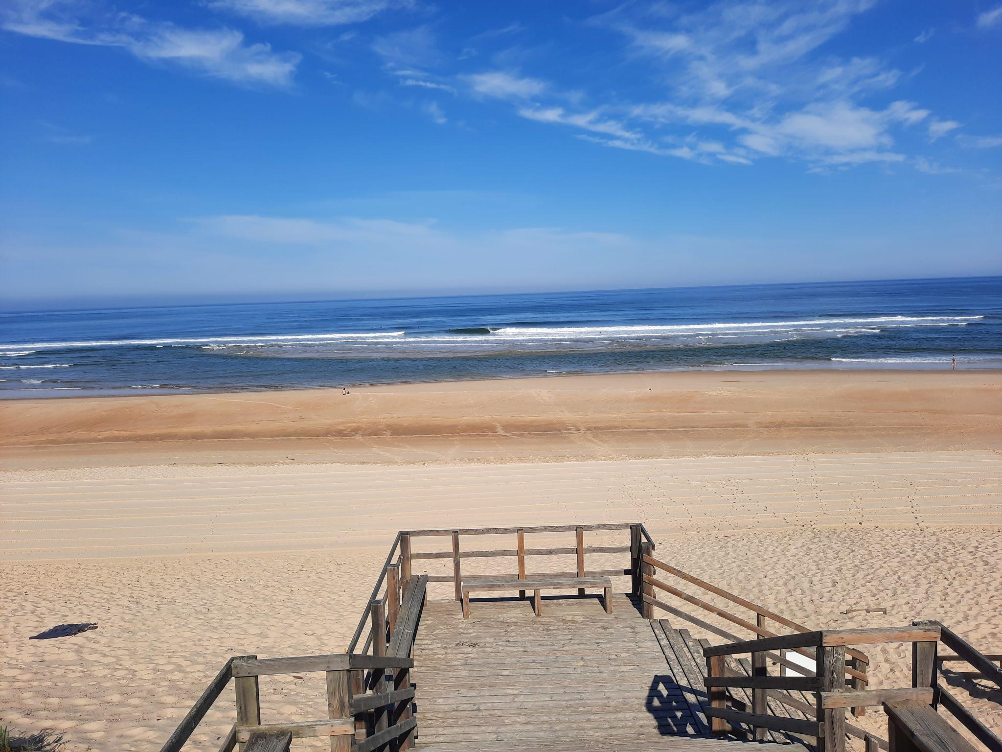
[(0, 397), (1002, 367), (1002, 278), (0, 314)]

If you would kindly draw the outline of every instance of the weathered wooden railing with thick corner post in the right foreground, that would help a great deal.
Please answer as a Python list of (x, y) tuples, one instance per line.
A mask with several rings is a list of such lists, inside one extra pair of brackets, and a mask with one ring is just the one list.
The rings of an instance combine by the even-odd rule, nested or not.
[[(730, 724), (744, 724), (756, 739), (765, 739), (769, 730), (816, 738), (818, 752), (845, 752), (847, 735), (865, 739), (868, 752), (887, 748), (886, 742), (852, 727), (846, 721), (846, 710), (884, 703), (920, 701), (933, 702), (936, 643), (940, 639), (938, 626), (912, 626), (868, 630), (825, 630), (796, 635), (765, 637), (703, 649), (706, 659), (707, 695), (710, 707), (710, 731), (725, 734)], [(846, 656), (851, 645), (912, 643), (913, 686), (902, 689), (849, 689), (845, 680)], [(813, 648), (817, 656), (815, 676), (769, 676), (767, 657), (777, 651)], [(735, 654), (752, 654), (752, 676), (727, 674), (724, 659)], [(727, 689), (752, 691), (752, 711), (727, 707)], [(812, 692), (816, 696), (813, 713), (802, 712), (809, 718), (788, 718), (769, 712), (768, 693)], [(814, 720), (810, 718), (813, 716)], [(855, 732), (855, 733), (854, 733)]]

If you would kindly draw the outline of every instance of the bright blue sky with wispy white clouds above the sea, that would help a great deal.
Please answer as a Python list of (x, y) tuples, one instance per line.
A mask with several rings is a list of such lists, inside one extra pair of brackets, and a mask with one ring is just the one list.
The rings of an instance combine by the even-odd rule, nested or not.
[(0, 299), (997, 275), (1000, 43), (987, 0), (7, 0)]

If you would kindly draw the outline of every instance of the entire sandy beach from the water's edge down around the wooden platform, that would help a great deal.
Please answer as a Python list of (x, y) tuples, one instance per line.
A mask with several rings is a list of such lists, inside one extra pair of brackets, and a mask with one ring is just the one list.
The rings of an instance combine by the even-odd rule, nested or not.
[[(659, 557), (810, 626), (940, 619), (1000, 653), (1000, 381), (652, 374), (4, 403), (0, 725), (156, 750), (227, 657), (343, 650), (401, 527), (640, 519)], [(860, 606), (889, 613), (841, 613)], [(28, 639), (70, 622), (100, 626)], [(904, 649), (872, 653), (877, 686), (910, 683)], [(262, 691), (266, 719), (323, 715), (312, 675)], [(974, 694), (1002, 731), (999, 693)], [(191, 749), (215, 749), (231, 693), (216, 708)]]

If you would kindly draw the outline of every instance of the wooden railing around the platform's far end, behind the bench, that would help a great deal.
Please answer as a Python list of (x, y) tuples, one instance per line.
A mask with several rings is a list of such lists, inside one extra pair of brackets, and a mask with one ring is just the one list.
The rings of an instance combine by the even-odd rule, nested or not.
[[(628, 531), (629, 541), (623, 545), (585, 545), (584, 537), (588, 532), (615, 532)], [(526, 547), (526, 536), (538, 534), (554, 534), (569, 532), (574, 533), (574, 545), (558, 547)], [(513, 548), (492, 548), (476, 549), (467, 548), (463, 543), (463, 538), (468, 536), (514, 536), (515, 547)], [(450, 550), (438, 551), (414, 551), (412, 545), (415, 538), (423, 537), (443, 537), (451, 542)], [(509, 538), (510, 539), (510, 538)], [(390, 553), (386, 557), (383, 569), (376, 580), (368, 605), (359, 619), (355, 633), (348, 645), (351, 653), (356, 651), (362, 654), (370, 654), (373, 646), (373, 615), (372, 609), (376, 604), (382, 604), (386, 611), (386, 619), (391, 625), (390, 632), (393, 632), (392, 625), (396, 620), (396, 611), (403, 597), (403, 588), (410, 581), (413, 573), (420, 568), (416, 561), (431, 559), (447, 559), (452, 561), (451, 575), (429, 575), (428, 583), (452, 583), (456, 601), (462, 601), (462, 583), (476, 582), (478, 579), (489, 577), (492, 580), (510, 579), (513, 582), (519, 580), (531, 581), (532, 578), (546, 577), (623, 577), (628, 576), (632, 580), (632, 592), (640, 595), (640, 560), (644, 553), (650, 554), (654, 550), (654, 541), (647, 532), (647, 528), (640, 522), (611, 522), (602, 524), (580, 524), (580, 525), (537, 525), (524, 527), (474, 527), (460, 529), (430, 529), (430, 530), (402, 530), (397, 533), (397, 537), (390, 547)], [(629, 566), (623, 569), (614, 570), (588, 570), (586, 567), (587, 554), (598, 553), (629, 553)], [(527, 574), (526, 558), (529, 556), (554, 556), (567, 555), (574, 556), (575, 570), (573, 572), (547, 572)], [(516, 559), (516, 566), (509, 571), (509, 574), (501, 576), (490, 575), (463, 575), (463, 560), (470, 558), (493, 558), (510, 557)], [(520, 594), (525, 597), (524, 591)], [(361, 645), (361, 648), (360, 648)]]

